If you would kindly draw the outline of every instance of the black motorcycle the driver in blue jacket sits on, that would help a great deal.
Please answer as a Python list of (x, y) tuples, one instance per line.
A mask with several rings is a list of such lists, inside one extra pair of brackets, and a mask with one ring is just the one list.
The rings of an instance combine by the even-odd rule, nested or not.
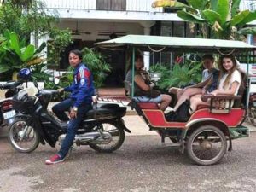
[[(14, 97), (13, 107), (20, 114), (9, 128), (9, 141), (19, 152), (29, 153), (38, 144), (49, 143), (51, 147), (62, 143), (67, 133), (68, 122), (63, 122), (47, 110), (52, 96), (57, 90), (38, 90), (36, 96), (28, 96), (26, 89)], [(98, 152), (113, 152), (125, 140), (125, 127), (122, 117), (126, 108), (117, 104), (103, 104), (91, 109), (84, 116), (73, 140), (76, 145), (89, 145)]]

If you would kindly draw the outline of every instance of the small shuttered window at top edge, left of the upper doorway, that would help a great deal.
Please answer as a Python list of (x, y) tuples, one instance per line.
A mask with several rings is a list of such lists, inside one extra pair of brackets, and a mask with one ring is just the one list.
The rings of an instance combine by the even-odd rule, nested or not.
[(97, 0), (97, 10), (126, 10), (125, 0)]

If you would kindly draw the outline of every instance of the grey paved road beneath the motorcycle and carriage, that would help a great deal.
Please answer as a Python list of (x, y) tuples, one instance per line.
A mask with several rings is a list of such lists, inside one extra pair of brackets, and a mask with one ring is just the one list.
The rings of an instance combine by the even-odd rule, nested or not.
[(215, 166), (195, 166), (178, 148), (162, 146), (155, 135), (127, 136), (113, 154), (76, 148), (64, 163), (45, 166), (57, 148), (15, 152), (0, 138), (0, 191), (228, 191), (256, 189), (256, 132), (234, 141), (234, 150)]

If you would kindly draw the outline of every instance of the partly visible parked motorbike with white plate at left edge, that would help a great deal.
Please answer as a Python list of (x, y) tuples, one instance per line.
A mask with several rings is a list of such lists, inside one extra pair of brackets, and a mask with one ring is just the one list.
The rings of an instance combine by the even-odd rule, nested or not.
[(12, 97), (22, 89), (22, 82), (9, 81), (0, 84), (0, 90), (7, 90), (5, 98), (0, 100), (0, 126), (9, 125), (13, 121), (16, 112), (13, 108)]

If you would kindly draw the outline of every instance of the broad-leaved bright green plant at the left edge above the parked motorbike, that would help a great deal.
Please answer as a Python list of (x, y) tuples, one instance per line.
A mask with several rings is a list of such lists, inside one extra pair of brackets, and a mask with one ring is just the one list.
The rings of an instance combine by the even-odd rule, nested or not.
[(21, 39), (15, 32), (5, 31), (0, 44), (0, 73), (16, 73), (22, 67), (42, 63), (40, 52), (46, 46), (41, 44), (35, 49), (33, 44), (26, 45), (26, 39)]

